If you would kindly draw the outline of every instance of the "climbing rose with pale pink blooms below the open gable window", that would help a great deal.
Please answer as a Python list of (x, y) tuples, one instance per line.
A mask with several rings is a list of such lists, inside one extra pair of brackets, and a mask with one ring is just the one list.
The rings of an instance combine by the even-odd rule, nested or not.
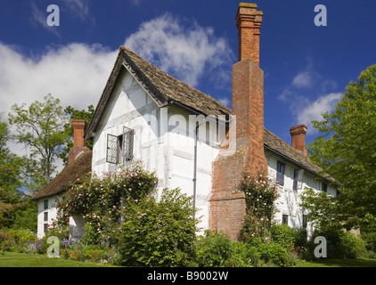
[(91, 242), (116, 242), (121, 210), (127, 201), (143, 199), (157, 183), (156, 175), (145, 171), (139, 163), (101, 176), (86, 177), (71, 186), (62, 201), (57, 201), (56, 226), (67, 224), (69, 216), (82, 216)]

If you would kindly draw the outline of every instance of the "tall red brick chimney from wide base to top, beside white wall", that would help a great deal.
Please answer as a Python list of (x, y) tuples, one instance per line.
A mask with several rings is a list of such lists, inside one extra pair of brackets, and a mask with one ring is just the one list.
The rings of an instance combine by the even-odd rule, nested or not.
[(264, 72), (259, 68), (259, 36), (263, 13), (257, 4), (239, 4), (239, 61), (233, 65), (233, 115), (236, 118), (236, 153), (217, 157), (209, 199), (209, 229), (223, 231), (233, 240), (246, 215), (245, 197), (237, 190), (244, 173), (266, 174), (264, 152)]

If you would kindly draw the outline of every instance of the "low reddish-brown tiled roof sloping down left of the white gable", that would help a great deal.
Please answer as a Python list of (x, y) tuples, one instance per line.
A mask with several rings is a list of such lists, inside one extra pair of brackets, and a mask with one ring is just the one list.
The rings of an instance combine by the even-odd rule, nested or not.
[(90, 175), (92, 171), (93, 151), (83, 152), (77, 159), (72, 161), (67, 167), (61, 170), (53, 180), (45, 185), (41, 191), (33, 196), (32, 199), (42, 199), (66, 191), (70, 185), (77, 183), (78, 179)]

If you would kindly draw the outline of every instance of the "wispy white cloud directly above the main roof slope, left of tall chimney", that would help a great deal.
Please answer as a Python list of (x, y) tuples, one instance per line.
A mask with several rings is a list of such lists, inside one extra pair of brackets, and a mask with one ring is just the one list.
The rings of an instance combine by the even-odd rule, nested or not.
[(186, 28), (182, 20), (169, 13), (144, 22), (127, 37), (125, 45), (189, 85), (198, 85), (208, 70), (212, 71), (210, 79), (230, 80), (230, 72), (224, 78), (220, 69), (234, 58), (225, 39), (214, 36), (213, 28), (202, 28), (197, 23)]

